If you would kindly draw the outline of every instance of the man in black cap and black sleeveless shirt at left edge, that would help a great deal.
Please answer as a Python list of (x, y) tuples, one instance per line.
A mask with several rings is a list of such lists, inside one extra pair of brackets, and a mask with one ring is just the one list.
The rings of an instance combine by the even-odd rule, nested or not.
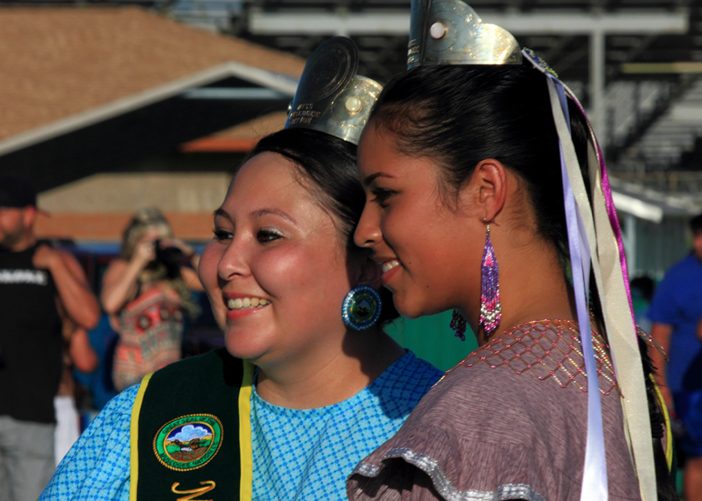
[(100, 314), (78, 261), (37, 242), (38, 211), (27, 181), (0, 177), (0, 489), (12, 501), (36, 500), (53, 474), (62, 319), (91, 329)]

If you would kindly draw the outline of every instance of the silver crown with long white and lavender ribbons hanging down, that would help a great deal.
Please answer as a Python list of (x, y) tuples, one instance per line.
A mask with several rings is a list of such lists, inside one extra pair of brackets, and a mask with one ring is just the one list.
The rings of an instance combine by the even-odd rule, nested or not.
[(407, 65), (517, 65), (527, 59), (543, 72), (559, 138), (571, 271), (588, 375), (588, 429), (581, 500), (607, 500), (607, 461), (588, 309), (590, 270), (600, 292), (604, 325), (621, 388), (622, 410), (643, 501), (656, 499), (656, 474), (644, 372), (633, 321), (621, 229), (607, 169), (590, 128), (590, 203), (569, 128), (568, 100), (585, 112), (574, 94), (534, 52), (501, 27), (482, 23), (461, 0), (412, 0)]

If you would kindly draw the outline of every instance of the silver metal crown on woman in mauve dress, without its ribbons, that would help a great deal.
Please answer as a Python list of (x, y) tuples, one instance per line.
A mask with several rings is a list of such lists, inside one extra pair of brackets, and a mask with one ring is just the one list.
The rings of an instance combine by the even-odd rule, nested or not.
[(521, 51), (510, 32), (482, 22), (461, 0), (412, 0), (408, 68), (519, 65)]

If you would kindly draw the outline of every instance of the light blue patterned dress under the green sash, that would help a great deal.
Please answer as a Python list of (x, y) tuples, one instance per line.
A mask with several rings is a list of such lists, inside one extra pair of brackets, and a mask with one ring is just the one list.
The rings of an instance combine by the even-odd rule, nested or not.
[[(317, 409), (251, 394), (253, 500), (345, 500), (357, 462), (402, 426), (439, 377), (408, 352), (347, 400)], [(138, 385), (107, 404), (66, 455), (39, 501), (128, 501), (131, 409)]]

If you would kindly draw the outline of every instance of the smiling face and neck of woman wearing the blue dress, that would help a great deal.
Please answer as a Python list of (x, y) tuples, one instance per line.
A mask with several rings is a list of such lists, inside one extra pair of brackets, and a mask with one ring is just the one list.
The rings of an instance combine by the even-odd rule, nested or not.
[[(347, 263), (334, 222), (294, 164), (260, 153), (234, 177), (201, 257), (199, 276), (227, 350), (259, 367), (256, 389), (276, 405), (343, 401), (404, 353), (376, 328), (343, 324), (345, 294), (359, 283), (379, 286), (380, 273), (367, 256)], [(227, 306), (245, 297), (268, 304)]]

